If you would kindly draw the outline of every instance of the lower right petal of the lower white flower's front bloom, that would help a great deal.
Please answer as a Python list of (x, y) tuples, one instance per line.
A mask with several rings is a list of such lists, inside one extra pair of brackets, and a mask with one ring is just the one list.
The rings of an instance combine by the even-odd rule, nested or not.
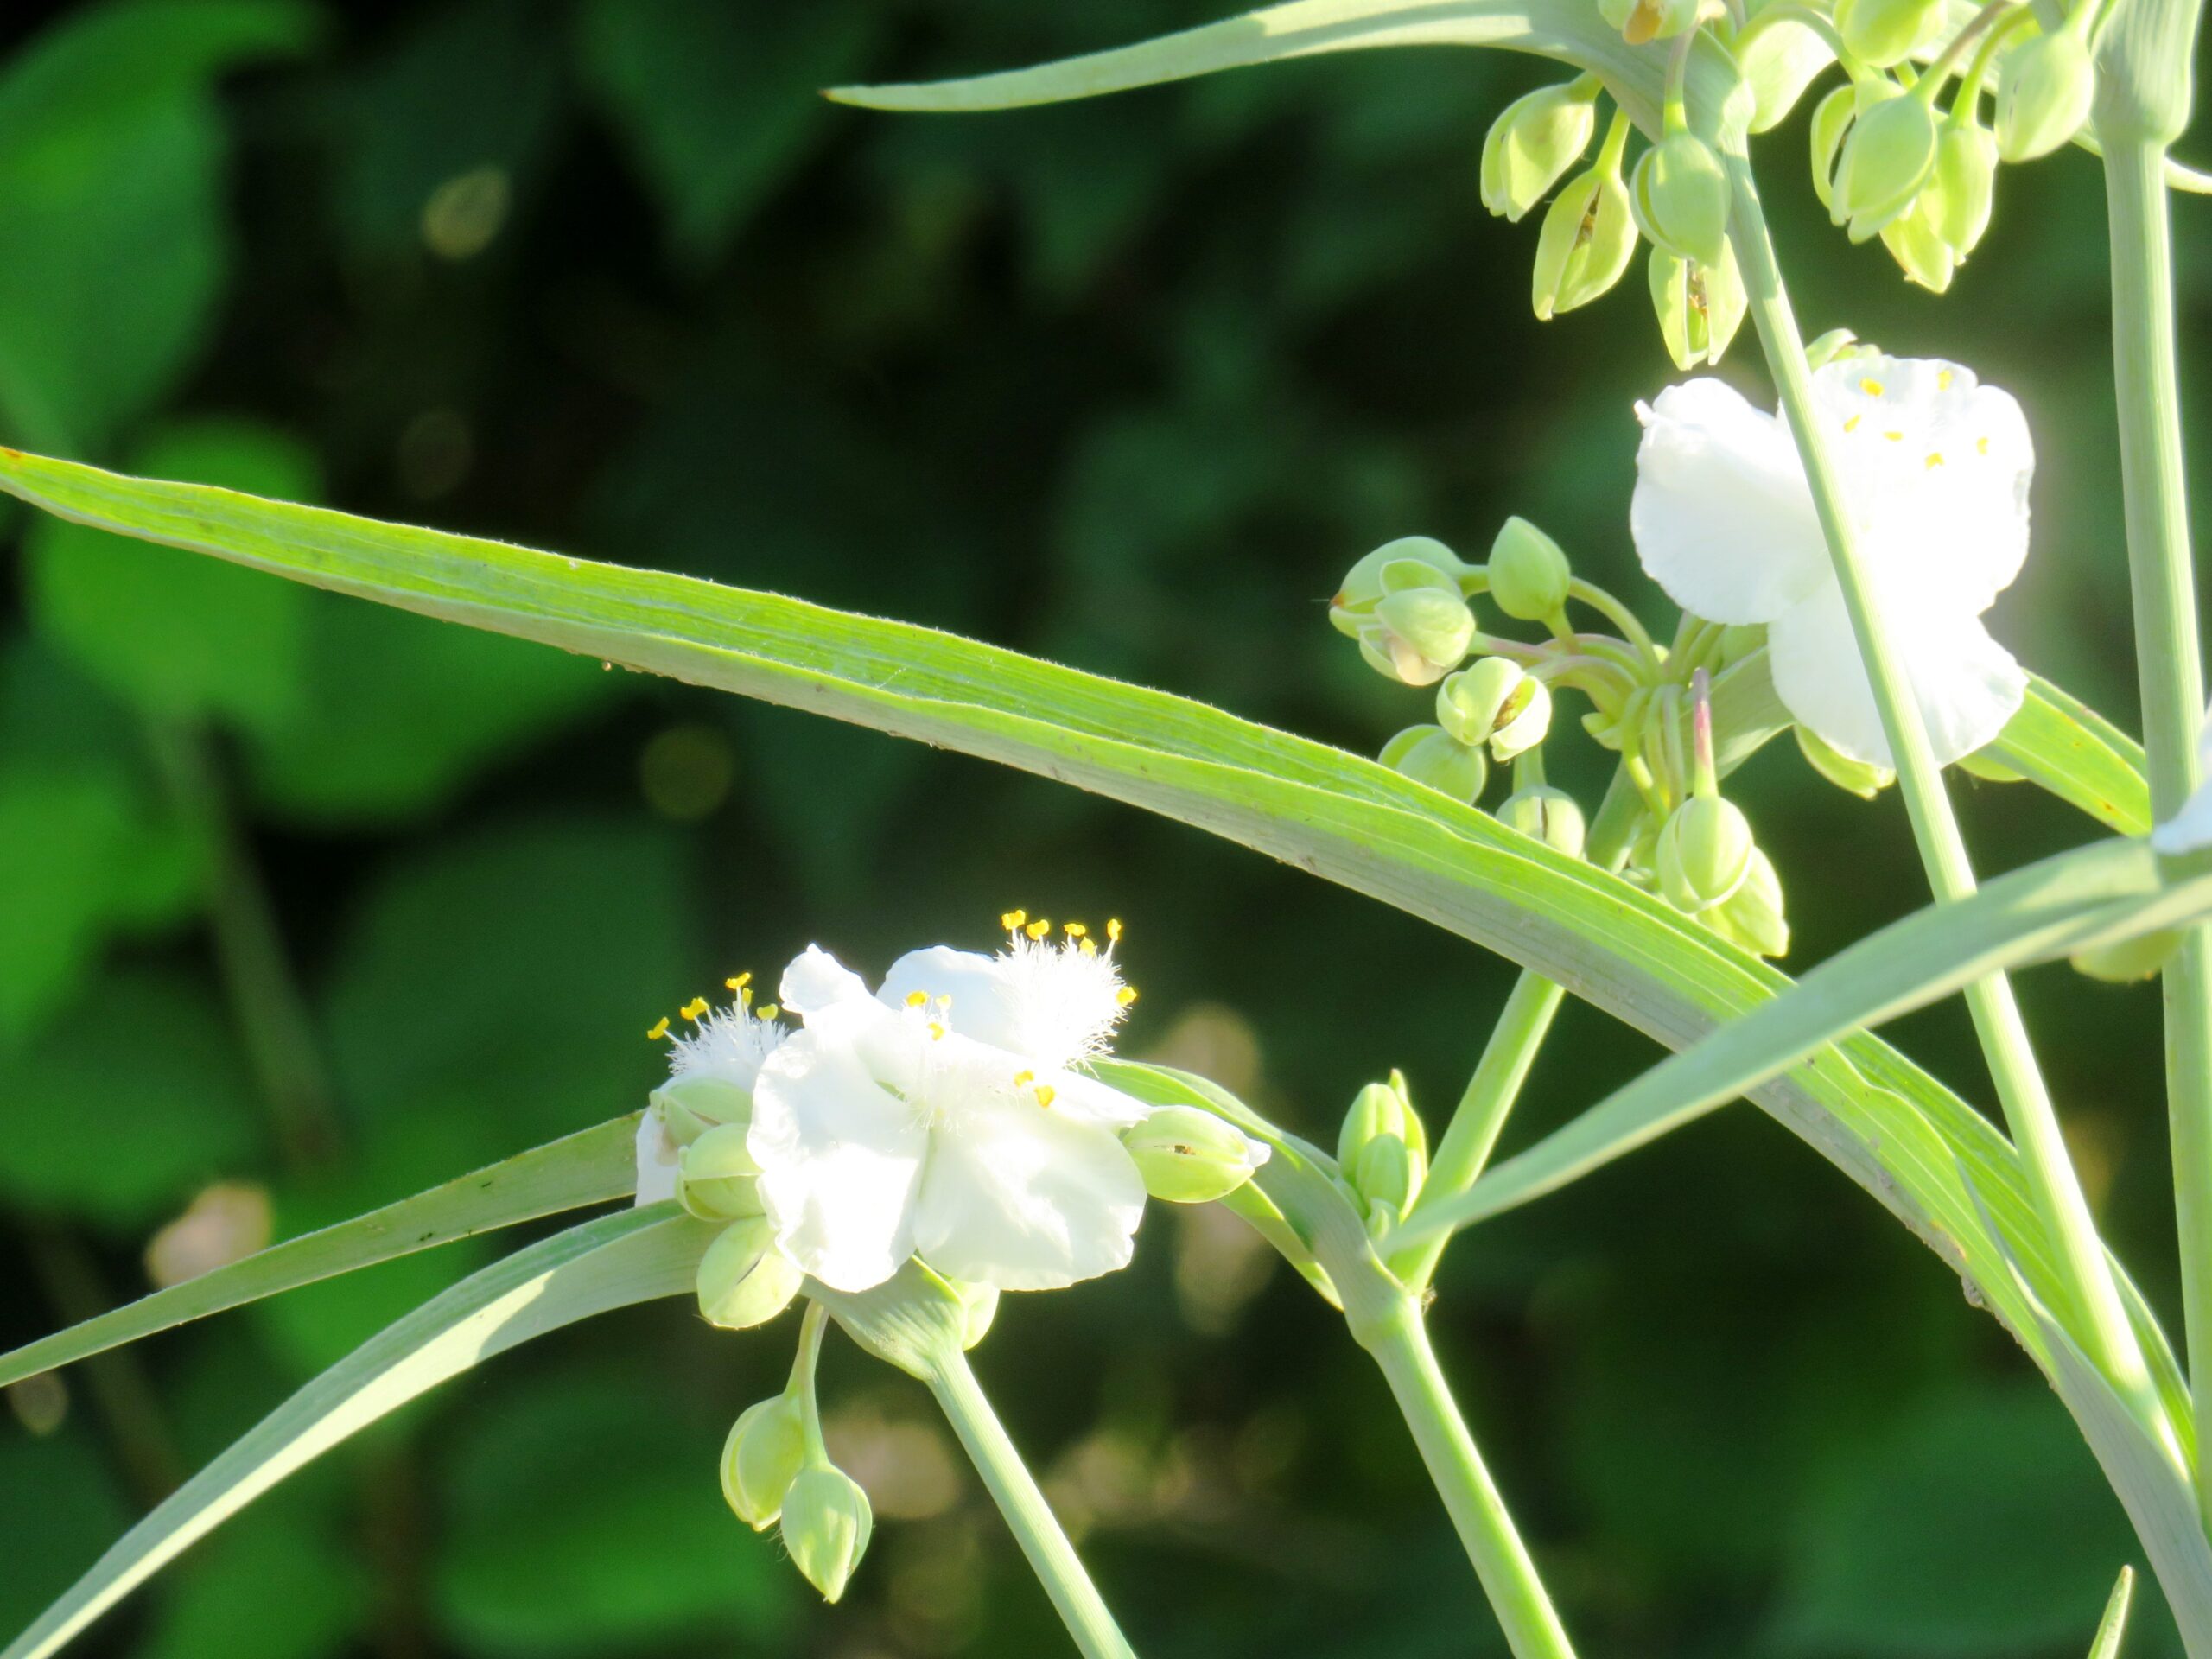
[(931, 1137), (914, 1250), (953, 1279), (1060, 1290), (1126, 1267), (1141, 1219), (1113, 1130), (1015, 1102)]

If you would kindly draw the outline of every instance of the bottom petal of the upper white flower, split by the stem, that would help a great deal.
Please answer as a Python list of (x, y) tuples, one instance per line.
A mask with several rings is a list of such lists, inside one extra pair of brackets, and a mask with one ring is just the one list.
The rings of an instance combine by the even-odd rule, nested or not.
[[(2026, 675), (1975, 617), (1891, 606), (1885, 622), (1938, 765), (1973, 754), (2020, 712)], [(1767, 657), (1774, 690), (1798, 721), (1856, 761), (1893, 765), (1840, 588), (1829, 584), (1776, 617)]]

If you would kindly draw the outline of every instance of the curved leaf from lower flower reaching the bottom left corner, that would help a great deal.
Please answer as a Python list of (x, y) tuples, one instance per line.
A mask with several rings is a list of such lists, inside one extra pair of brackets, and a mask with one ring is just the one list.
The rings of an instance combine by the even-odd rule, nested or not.
[(453, 1285), (303, 1387), (166, 1498), (0, 1659), (58, 1652), (115, 1601), (279, 1480), (495, 1354), (692, 1287), (714, 1228), (670, 1203), (586, 1221)]

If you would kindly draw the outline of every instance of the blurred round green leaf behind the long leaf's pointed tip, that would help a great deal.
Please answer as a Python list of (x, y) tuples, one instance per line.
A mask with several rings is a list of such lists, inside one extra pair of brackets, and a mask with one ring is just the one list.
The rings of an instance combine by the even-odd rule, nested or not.
[[(281, 500), (316, 493), (310, 451), (243, 420), (170, 427), (137, 462), (155, 478)], [(33, 524), (24, 555), (40, 633), (126, 703), (246, 726), (299, 706), (314, 595), (80, 524)]]

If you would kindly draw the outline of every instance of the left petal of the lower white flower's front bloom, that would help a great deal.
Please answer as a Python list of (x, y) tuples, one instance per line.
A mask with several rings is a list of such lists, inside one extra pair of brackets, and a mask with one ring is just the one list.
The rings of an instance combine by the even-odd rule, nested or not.
[(816, 1015), (761, 1068), (745, 1150), (783, 1252), (834, 1290), (880, 1285), (914, 1254), (929, 1135), (883, 1088), (876, 1004)]

